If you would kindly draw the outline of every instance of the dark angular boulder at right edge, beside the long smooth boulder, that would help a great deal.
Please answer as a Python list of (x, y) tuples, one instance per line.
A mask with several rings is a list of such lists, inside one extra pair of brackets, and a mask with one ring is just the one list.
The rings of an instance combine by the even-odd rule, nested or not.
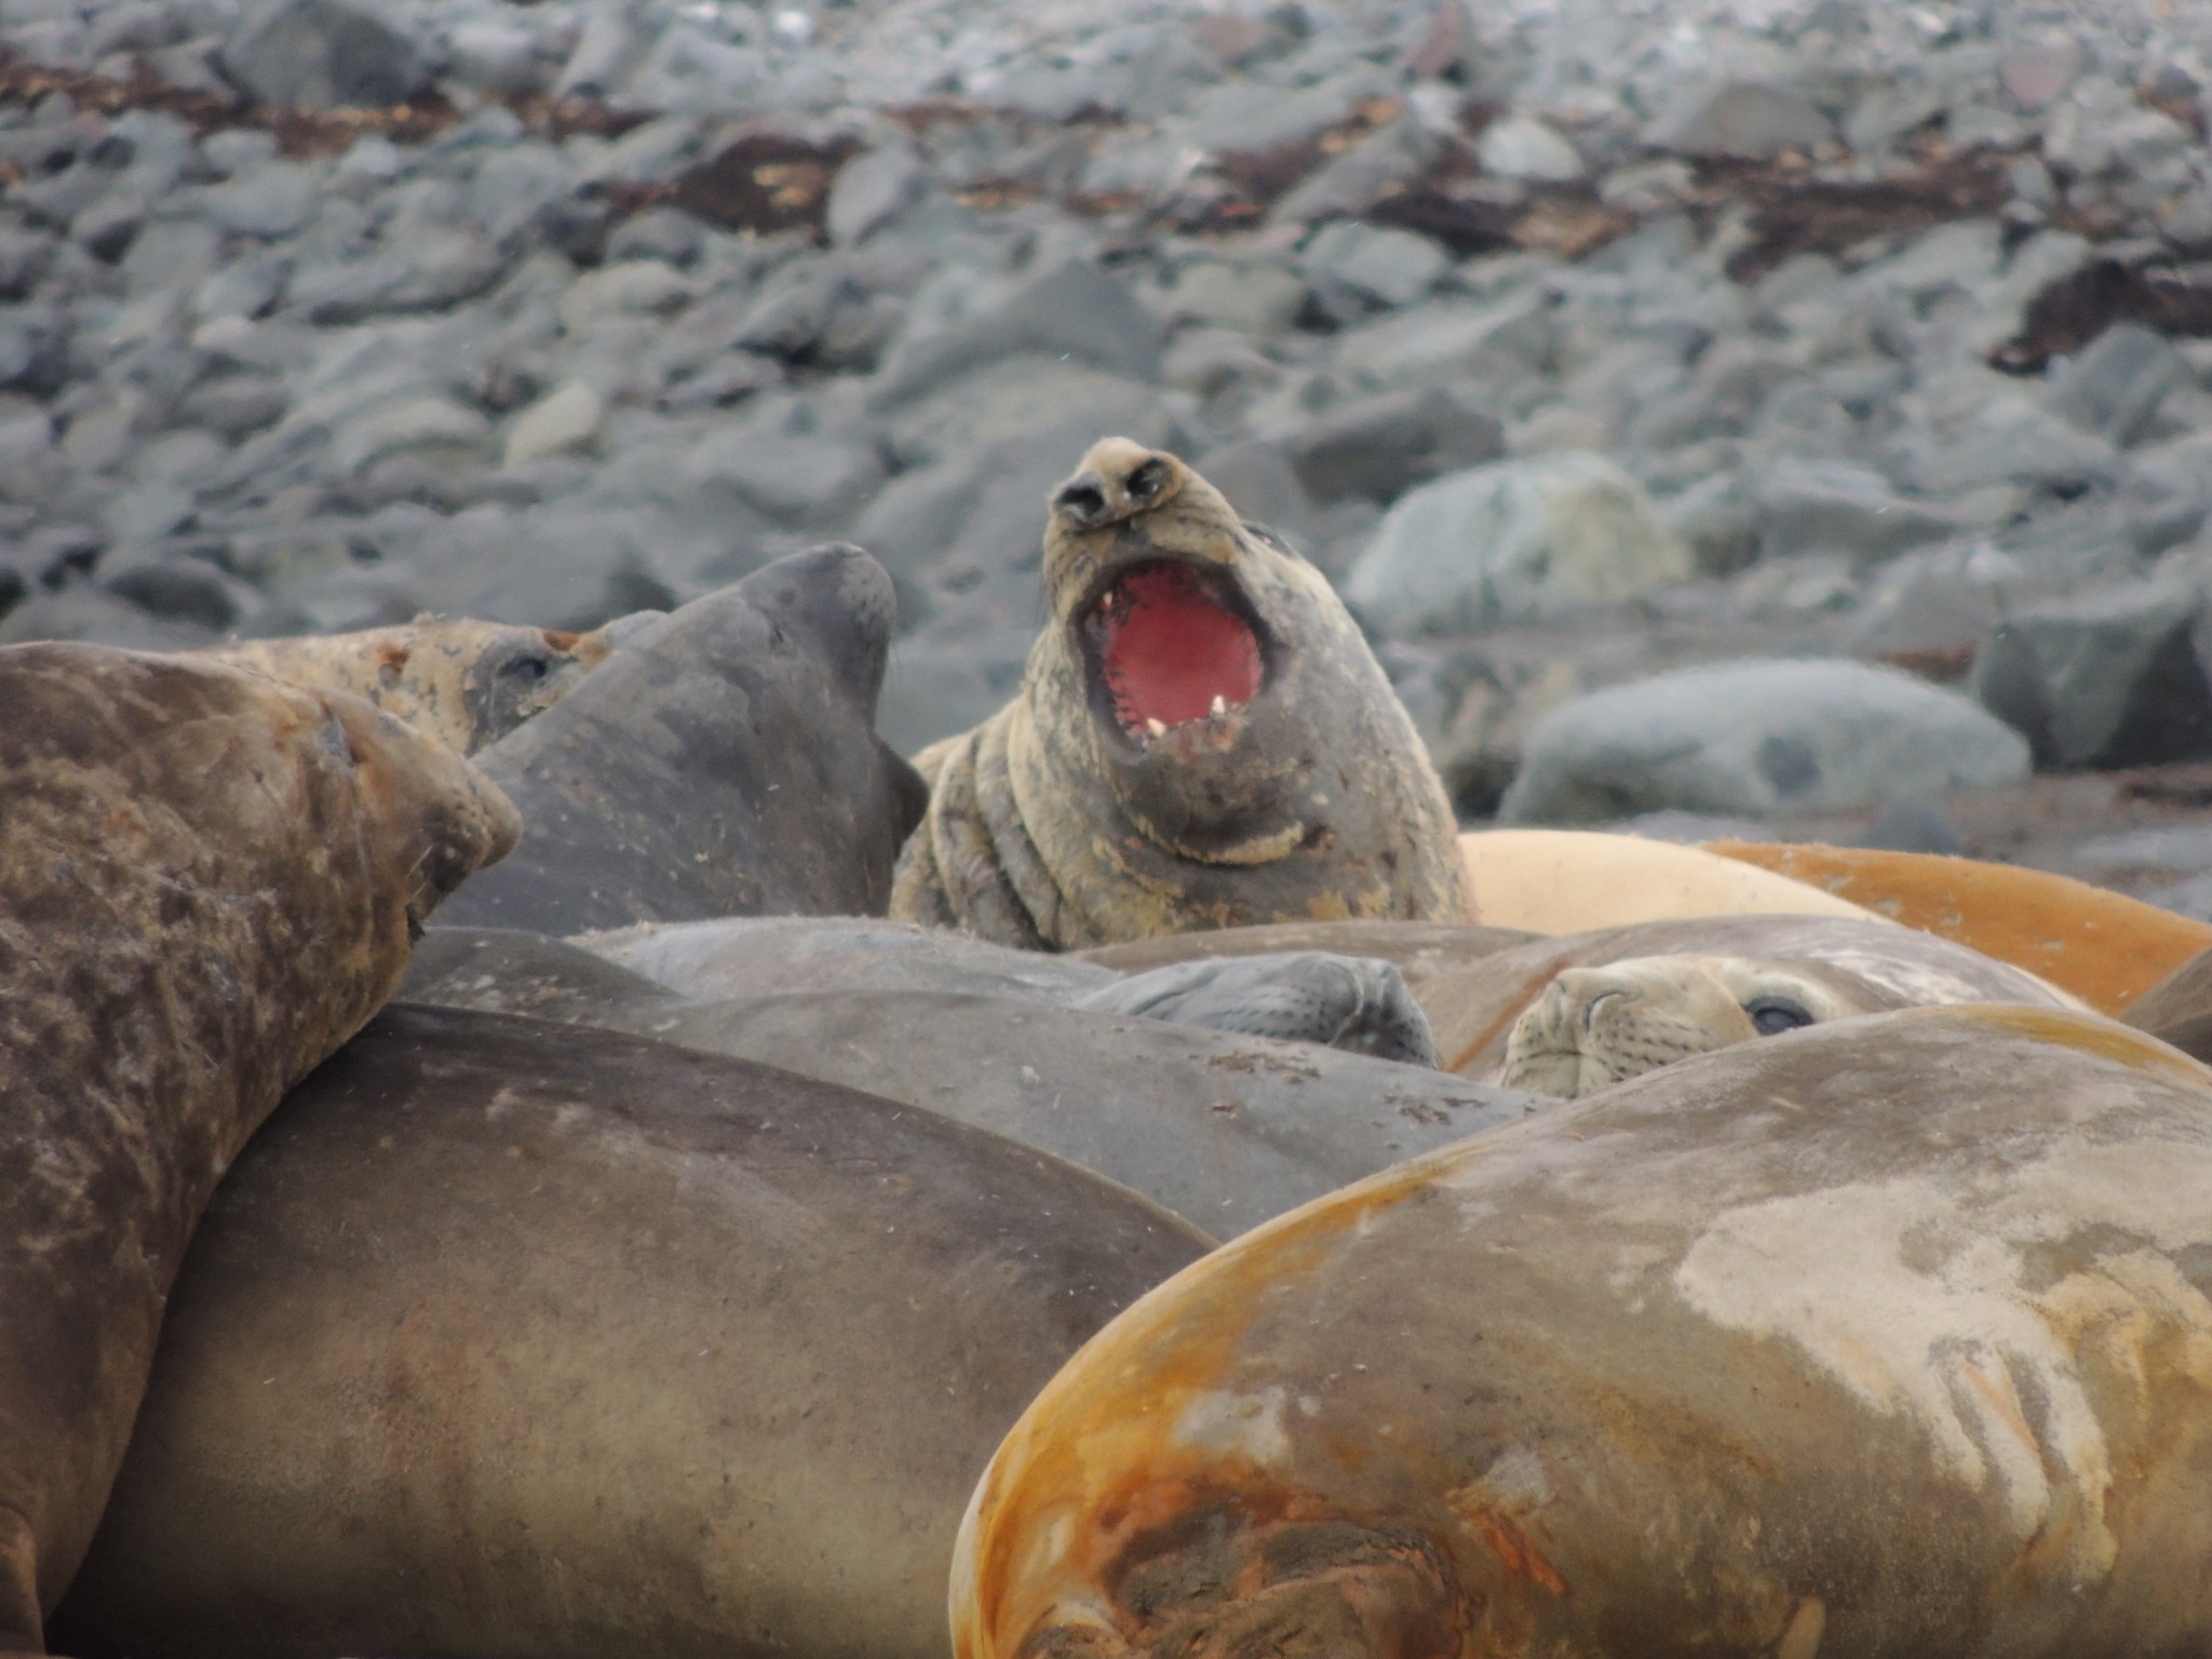
[(2190, 641), (2201, 613), (2181, 582), (2031, 606), (1989, 635), (1975, 695), (2026, 734), (2039, 765), (2212, 757), (2212, 686)]

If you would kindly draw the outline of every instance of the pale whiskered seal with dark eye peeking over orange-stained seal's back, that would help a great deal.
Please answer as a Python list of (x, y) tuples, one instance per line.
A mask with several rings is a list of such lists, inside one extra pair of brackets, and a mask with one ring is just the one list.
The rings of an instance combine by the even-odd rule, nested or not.
[[(2079, 1009), (2026, 969), (1891, 922), (1703, 916), (1533, 940), (1422, 980), (1447, 1071), (1579, 1093), (1730, 1042), (1854, 1013), (1951, 1002)], [(1537, 1071), (1579, 1077), (1546, 1088)]]

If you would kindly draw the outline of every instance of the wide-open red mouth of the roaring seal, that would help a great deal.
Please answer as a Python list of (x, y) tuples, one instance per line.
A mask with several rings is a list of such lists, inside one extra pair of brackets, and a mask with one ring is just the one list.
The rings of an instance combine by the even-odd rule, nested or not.
[(1267, 679), (1267, 637), (1219, 564), (1139, 557), (1106, 571), (1075, 615), (1091, 706), (1139, 748), (1223, 719)]

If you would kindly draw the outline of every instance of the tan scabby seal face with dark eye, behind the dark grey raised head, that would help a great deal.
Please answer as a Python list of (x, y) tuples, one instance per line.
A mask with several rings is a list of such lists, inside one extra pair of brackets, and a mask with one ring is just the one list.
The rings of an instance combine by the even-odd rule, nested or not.
[(476, 754), (553, 708), (606, 661), (606, 650), (602, 633), (422, 615), (398, 628), (239, 639), (199, 655), (292, 686), (367, 697), (387, 714)]

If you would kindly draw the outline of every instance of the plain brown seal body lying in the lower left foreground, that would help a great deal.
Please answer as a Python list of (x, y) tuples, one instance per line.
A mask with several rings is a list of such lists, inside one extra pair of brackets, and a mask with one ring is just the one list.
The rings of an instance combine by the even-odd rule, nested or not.
[(73, 1652), (942, 1659), (991, 1447), (1210, 1239), (962, 1124), (387, 1009), (226, 1177)]

